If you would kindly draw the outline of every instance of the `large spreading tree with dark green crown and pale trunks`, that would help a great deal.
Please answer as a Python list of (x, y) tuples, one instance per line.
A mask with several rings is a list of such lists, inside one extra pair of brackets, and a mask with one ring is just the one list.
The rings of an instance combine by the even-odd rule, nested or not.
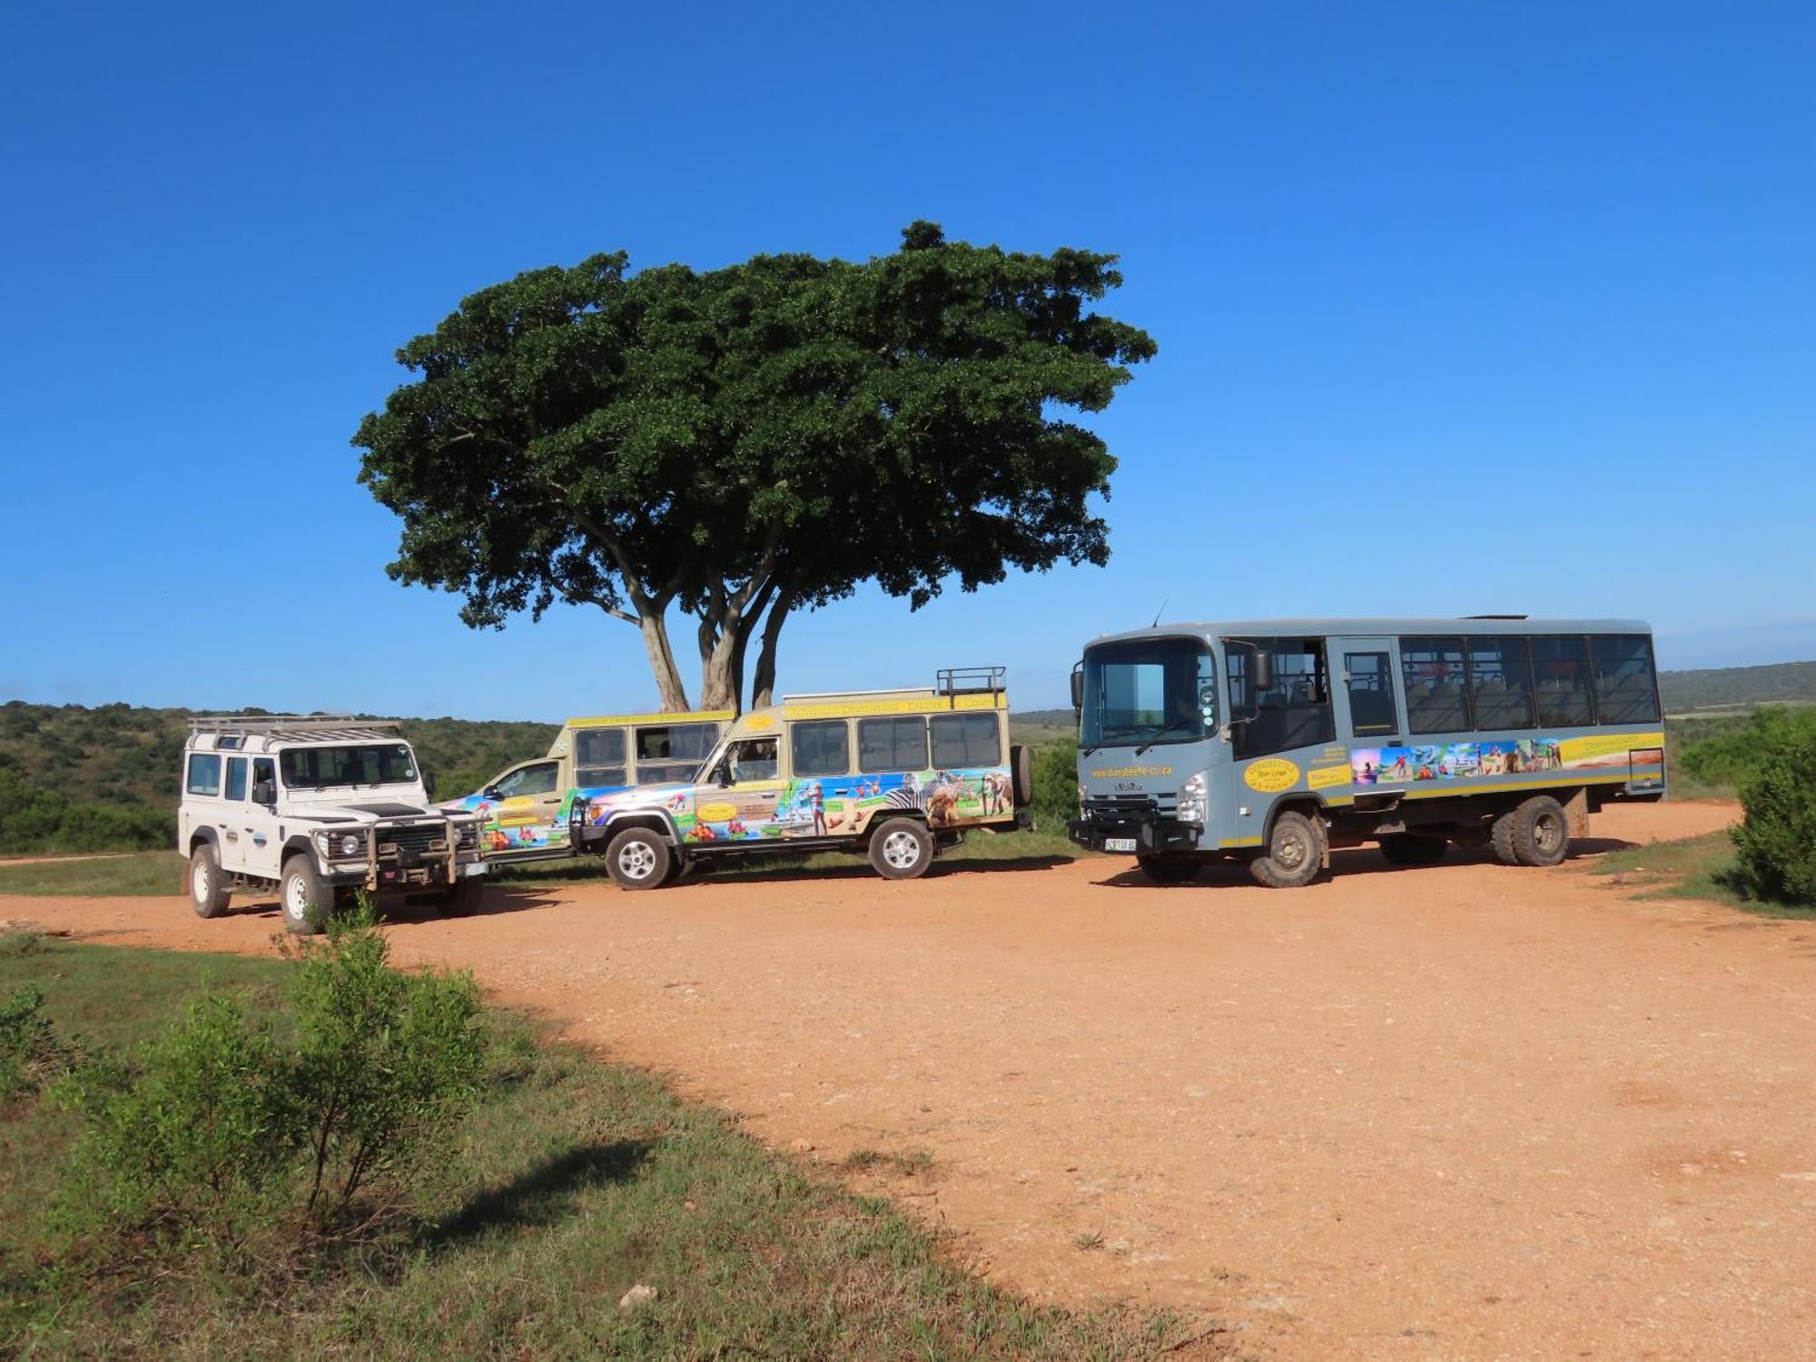
[(755, 256), (628, 271), (623, 252), (483, 289), (398, 361), (354, 434), (403, 519), (387, 568), (472, 627), (556, 601), (637, 627), (688, 706), (768, 703), (794, 610), (875, 581), (919, 608), (1010, 568), (1104, 563), (1115, 459), (1070, 419), (1155, 352), (1090, 311), (1115, 256), (946, 242), (917, 222), (864, 263)]

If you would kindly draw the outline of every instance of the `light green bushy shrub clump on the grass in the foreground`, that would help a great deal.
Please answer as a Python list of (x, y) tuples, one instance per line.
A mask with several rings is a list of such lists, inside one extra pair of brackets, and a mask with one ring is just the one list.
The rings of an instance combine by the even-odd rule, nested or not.
[(87, 1115), (67, 1209), (238, 1251), (285, 1226), (365, 1233), (472, 1100), (487, 1053), (465, 973), (401, 973), (370, 906), (300, 948), (289, 1008), (192, 1001), (131, 1066), (69, 1084)]

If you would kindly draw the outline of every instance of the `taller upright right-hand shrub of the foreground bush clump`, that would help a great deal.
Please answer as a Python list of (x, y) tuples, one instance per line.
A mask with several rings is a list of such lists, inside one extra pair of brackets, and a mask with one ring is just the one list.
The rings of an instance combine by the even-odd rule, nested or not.
[(305, 1209), (340, 1220), (374, 1180), (396, 1206), (412, 1160), (472, 1100), (487, 1039), (469, 973), (401, 973), (372, 908), (298, 943), (294, 1110), (309, 1160)]

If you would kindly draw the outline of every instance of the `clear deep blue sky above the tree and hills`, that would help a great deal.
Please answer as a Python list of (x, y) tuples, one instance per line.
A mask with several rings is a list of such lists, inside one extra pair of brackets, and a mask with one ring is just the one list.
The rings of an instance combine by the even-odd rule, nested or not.
[[(637, 636), (392, 585), (347, 439), (521, 269), (1122, 256), (1108, 568), (785, 634), (783, 688), (1300, 614), (1816, 657), (1809, 5), (15, 7), (0, 697), (556, 719)], [(679, 634), (688, 637), (686, 632)], [(692, 672), (692, 666), (690, 666)]]

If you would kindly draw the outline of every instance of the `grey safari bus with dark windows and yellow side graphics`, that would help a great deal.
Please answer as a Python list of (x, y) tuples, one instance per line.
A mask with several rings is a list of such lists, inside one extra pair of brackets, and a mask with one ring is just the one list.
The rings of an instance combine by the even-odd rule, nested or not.
[(1110, 634), (1071, 674), (1071, 841), (1157, 883), (1333, 846), (1400, 866), (1493, 846), (1551, 866), (1611, 799), (1662, 799), (1653, 632), (1633, 619), (1262, 619)]

